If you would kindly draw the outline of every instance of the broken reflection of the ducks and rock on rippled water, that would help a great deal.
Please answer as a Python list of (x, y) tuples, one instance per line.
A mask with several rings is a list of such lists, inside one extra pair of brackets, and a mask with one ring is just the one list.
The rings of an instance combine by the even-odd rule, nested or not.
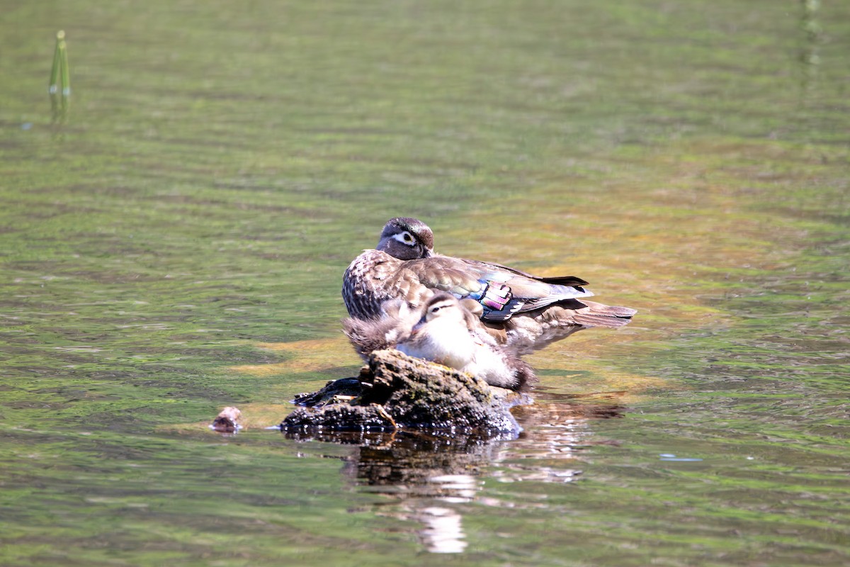
[(391, 505), (377, 513), (415, 521), (421, 526), (417, 536), (431, 553), (461, 553), (467, 541), (458, 505), (503, 505), (484, 491), (484, 474), (502, 482), (575, 480), (581, 475), (575, 466), (579, 453), (598, 444), (589, 439), (591, 420), (622, 417), (621, 394), (580, 400), (541, 392), (536, 404), (513, 408), (524, 429), (517, 439), (412, 431), (299, 432), (286, 437), (359, 445), (343, 473), (363, 490), (391, 498)]

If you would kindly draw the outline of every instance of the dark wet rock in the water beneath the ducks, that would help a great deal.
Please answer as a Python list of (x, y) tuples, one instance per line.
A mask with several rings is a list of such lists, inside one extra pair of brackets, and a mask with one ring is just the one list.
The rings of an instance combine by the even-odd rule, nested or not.
[(530, 397), (390, 349), (372, 353), (360, 377), (327, 383), (295, 401), (304, 407), (280, 423), (287, 433), (429, 430), (504, 437), (519, 434), (509, 408)]

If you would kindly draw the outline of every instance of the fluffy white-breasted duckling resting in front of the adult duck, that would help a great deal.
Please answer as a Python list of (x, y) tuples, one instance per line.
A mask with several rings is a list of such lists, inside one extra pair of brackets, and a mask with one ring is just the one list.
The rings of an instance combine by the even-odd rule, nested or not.
[(478, 317), (450, 293), (433, 293), (418, 310), (392, 300), (381, 317), (343, 320), (343, 328), (364, 359), (374, 350), (395, 348), (469, 372), (491, 386), (526, 390), (536, 382), (531, 367), (496, 344)]

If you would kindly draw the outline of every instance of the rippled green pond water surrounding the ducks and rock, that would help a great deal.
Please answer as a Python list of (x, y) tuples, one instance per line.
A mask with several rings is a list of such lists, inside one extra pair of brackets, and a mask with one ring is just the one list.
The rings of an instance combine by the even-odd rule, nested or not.
[[(850, 4), (806, 6), (4, 2), (0, 564), (850, 563)], [(357, 371), (399, 214), (640, 314), (531, 357), (520, 439), (264, 429)]]

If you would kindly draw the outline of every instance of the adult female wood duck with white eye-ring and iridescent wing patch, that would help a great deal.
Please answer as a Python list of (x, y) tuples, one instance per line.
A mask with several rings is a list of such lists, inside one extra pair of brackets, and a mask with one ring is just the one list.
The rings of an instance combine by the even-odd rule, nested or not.
[(354, 258), (343, 275), (348, 314), (381, 314), (382, 303), (400, 298), (412, 309), (434, 292), (449, 292), (479, 305), (488, 332), (516, 352), (592, 326), (626, 325), (635, 309), (587, 301), (587, 281), (573, 276), (538, 277), (501, 264), (433, 252), (433, 232), (416, 218), (391, 218), (377, 248)]

